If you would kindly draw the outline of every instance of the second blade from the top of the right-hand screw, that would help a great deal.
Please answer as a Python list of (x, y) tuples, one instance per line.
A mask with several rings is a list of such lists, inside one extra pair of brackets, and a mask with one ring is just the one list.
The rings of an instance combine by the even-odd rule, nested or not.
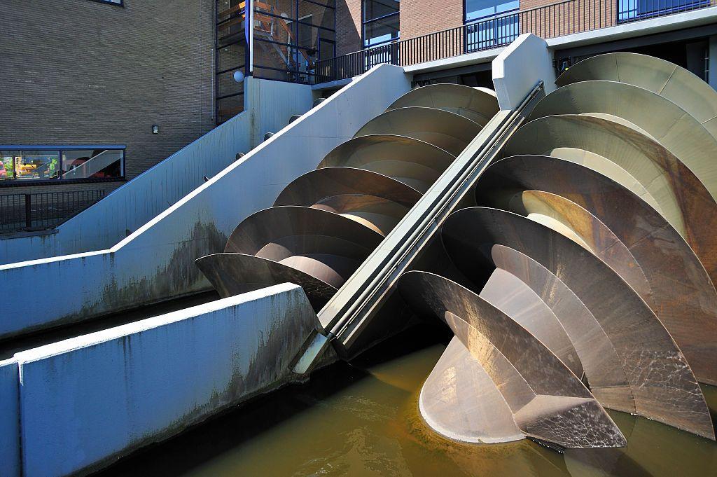
[(553, 91), (530, 117), (564, 114), (602, 115), (644, 131), (677, 156), (717, 200), (717, 140), (672, 101), (622, 82), (584, 81)]

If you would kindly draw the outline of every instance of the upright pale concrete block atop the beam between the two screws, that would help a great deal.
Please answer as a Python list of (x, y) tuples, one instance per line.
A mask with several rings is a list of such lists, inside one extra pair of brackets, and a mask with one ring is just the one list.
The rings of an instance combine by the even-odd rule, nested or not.
[(538, 80), (546, 94), (555, 90), (553, 54), (541, 37), (521, 34), (493, 60), (493, 85), (502, 110), (516, 108)]

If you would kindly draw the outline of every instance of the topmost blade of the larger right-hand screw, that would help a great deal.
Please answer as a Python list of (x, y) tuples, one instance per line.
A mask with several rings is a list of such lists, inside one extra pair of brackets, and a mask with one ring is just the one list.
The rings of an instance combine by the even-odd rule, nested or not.
[(624, 82), (652, 91), (693, 115), (717, 137), (717, 93), (683, 67), (638, 53), (606, 53), (576, 63), (555, 83), (560, 87), (590, 80)]

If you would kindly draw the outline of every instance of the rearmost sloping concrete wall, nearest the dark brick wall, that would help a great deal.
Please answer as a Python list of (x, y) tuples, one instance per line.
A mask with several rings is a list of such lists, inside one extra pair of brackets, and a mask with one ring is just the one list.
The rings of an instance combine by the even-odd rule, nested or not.
[(156, 217), (250, 151), (268, 131), (311, 108), (308, 85), (247, 78), (246, 108), (221, 126), (111, 192), (54, 233), (0, 238), (0, 263), (103, 250)]

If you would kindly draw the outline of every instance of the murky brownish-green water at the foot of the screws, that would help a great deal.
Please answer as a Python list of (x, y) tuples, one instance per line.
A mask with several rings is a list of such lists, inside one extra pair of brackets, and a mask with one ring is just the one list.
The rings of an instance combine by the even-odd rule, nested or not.
[[(261, 398), (168, 443), (120, 461), (106, 476), (717, 476), (717, 444), (610, 412), (619, 450), (560, 454), (529, 440), (462, 445), (427, 429), (417, 400), (445, 344), (409, 331), (350, 366)], [(717, 388), (706, 389), (717, 407)]]

